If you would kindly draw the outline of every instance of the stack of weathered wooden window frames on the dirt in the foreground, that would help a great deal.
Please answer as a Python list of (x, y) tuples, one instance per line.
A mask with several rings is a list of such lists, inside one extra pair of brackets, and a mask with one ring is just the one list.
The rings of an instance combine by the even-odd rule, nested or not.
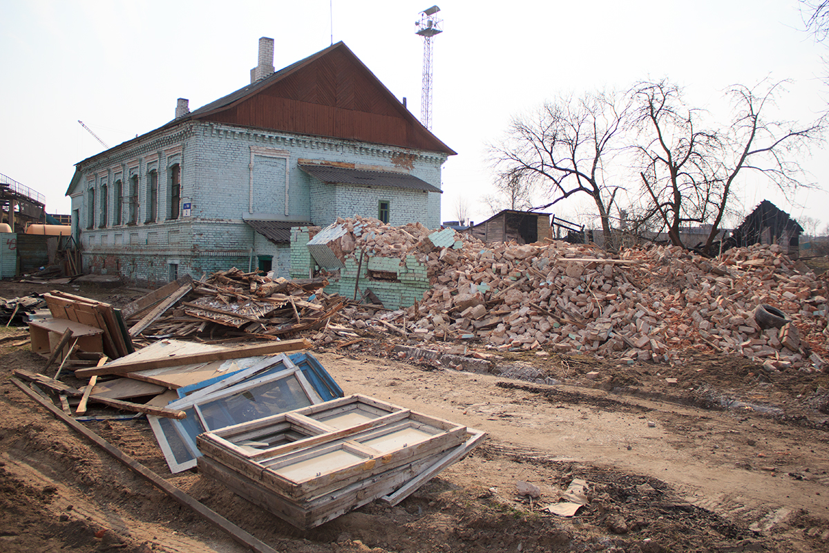
[(200, 434), (199, 472), (300, 529), (396, 505), (486, 434), (349, 395)]

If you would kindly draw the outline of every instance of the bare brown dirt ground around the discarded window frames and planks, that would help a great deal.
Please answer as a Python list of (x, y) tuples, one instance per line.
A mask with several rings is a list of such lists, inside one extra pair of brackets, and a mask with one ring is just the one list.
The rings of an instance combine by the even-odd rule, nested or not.
[[(141, 295), (3, 282), (0, 296), (50, 289), (116, 306)], [(0, 337), (12, 334), (27, 330)], [(558, 382), (547, 385), (405, 361), (392, 340), (313, 354), (347, 394), (489, 439), (398, 507), (371, 503), (311, 531), (196, 471), (170, 474), (142, 418), (85, 424), (278, 551), (829, 551), (827, 374), (768, 373), (699, 351), (677, 366), (535, 352), (495, 358), (502, 373), (531, 367)], [(0, 551), (246, 551), (8, 380), (16, 368), (44, 365), (25, 345), (0, 346)], [(547, 512), (574, 478), (589, 483), (589, 505), (573, 518)], [(541, 497), (518, 497), (519, 481)]]

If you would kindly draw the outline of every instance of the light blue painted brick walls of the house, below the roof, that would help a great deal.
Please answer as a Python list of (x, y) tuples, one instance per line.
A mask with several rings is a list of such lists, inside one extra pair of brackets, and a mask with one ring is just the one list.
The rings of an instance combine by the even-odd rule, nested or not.
[[(251, 147), (283, 152), (284, 157), (254, 156)], [(440, 167), (445, 156), (414, 153), (404, 148), (346, 140), (292, 136), (241, 129), (224, 124), (189, 122), (163, 132), (151, 133), (128, 148), (114, 148), (107, 157), (82, 167), (78, 187), (72, 191), (72, 209), (78, 210), (86, 271), (120, 274), (137, 282), (162, 283), (170, 276), (170, 264), (178, 274), (247, 269), (257, 255), (274, 255), (279, 275), (308, 276), (308, 259), (294, 259), (289, 245), (273, 245), (257, 235), (243, 220), (250, 212), (269, 213), (291, 221), (311, 221), (327, 226), (337, 216), (377, 216), (377, 201), (391, 202), (390, 222), (403, 225), (420, 221), (429, 228), (439, 226), (440, 195), (437, 193), (331, 187), (323, 185), (298, 167), (298, 160), (360, 163), (395, 169), (403, 153), (410, 171), (424, 181), (440, 186)], [(287, 158), (287, 160), (286, 160)], [(181, 202), (191, 204), (191, 216), (168, 219), (170, 210), (168, 169), (180, 163)], [(158, 218), (148, 223), (148, 167), (158, 171)], [(137, 224), (127, 225), (128, 187), (131, 169), (139, 175)], [(284, 214), (284, 171), (288, 170), (288, 215)], [(114, 178), (124, 183), (123, 221), (114, 226)], [(252, 177), (252, 180), (251, 180)], [(109, 187), (108, 225), (99, 228), (100, 187)], [(251, 187), (253, 184), (253, 187)], [(88, 188), (96, 191), (95, 227), (89, 221)], [(252, 204), (252, 205), (251, 205)], [(74, 223), (73, 223), (74, 224)], [(307, 240), (306, 240), (307, 241)], [(307, 249), (306, 249), (307, 250)], [(296, 267), (294, 266), (296, 264)]]

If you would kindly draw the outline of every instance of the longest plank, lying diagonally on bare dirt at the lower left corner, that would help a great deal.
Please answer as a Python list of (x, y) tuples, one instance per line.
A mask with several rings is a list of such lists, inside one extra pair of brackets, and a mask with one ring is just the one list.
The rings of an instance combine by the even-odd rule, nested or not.
[(206, 521), (209, 521), (212, 525), (218, 527), (222, 531), (227, 532), (230, 537), (242, 546), (249, 547), (252, 551), (255, 551), (255, 553), (277, 553), (273, 547), (259, 541), (255, 536), (252, 536), (248, 532), (242, 530), (239, 526), (236, 526), (232, 522), (228, 521), (225, 517), (222, 517), (217, 512), (205, 507), (201, 502), (196, 501), (196, 499), (190, 497), (187, 493), (182, 492), (182, 490), (176, 488), (171, 483), (167, 482), (167, 480), (161, 478), (158, 474), (143, 466), (143, 464), (138, 463), (138, 461), (134, 458), (124, 454), (124, 452), (116, 448), (114, 445), (109, 444), (109, 442), (101, 438), (98, 434), (95, 434), (92, 430), (86, 428), (83, 424), (80, 424), (79, 422), (72, 420), (71, 417), (66, 416), (61, 412), (61, 410), (58, 410), (54, 405), (51, 405), (51, 403), (49, 403), (49, 401), (43, 398), (40, 394), (37, 394), (34, 390), (31, 390), (28, 386), (23, 385), (21, 381), (12, 378), (12, 382), (20, 388), (23, 393), (31, 397), (33, 400), (36, 400), (47, 410), (49, 410), (52, 415), (55, 415), (71, 429), (75, 430), (75, 432), (78, 432), (84, 436), (85, 439), (90, 440), (93, 444), (99, 446), (101, 449), (104, 449), (104, 451), (108, 454), (118, 459), (121, 463), (124, 463), (124, 465), (133, 471), (133, 473), (138, 474), (138, 476), (147, 480), (156, 488), (159, 488), (162, 492), (175, 499), (184, 507), (191, 508), (198, 515), (206, 519)]

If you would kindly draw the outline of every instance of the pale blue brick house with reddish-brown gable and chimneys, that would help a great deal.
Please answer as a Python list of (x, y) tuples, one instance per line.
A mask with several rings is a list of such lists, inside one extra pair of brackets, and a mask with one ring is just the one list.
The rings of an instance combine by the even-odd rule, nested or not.
[(84, 269), (158, 283), (259, 267), (288, 276), (290, 229), (337, 216), (439, 226), (455, 152), (339, 42), (76, 164), (67, 196)]

